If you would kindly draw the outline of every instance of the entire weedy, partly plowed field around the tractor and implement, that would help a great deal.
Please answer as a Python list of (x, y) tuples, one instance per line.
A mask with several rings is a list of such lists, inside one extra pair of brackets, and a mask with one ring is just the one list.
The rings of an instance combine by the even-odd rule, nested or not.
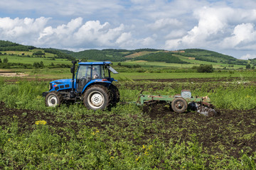
[[(68, 78), (68, 69), (62, 72), (58, 78)], [(164, 103), (121, 102), (96, 112), (72, 103), (47, 108), (41, 93), (54, 76), (45, 74), (0, 77), (0, 169), (256, 168), (255, 72), (117, 77), (122, 102), (136, 101), (142, 89), (163, 95), (191, 89), (210, 97), (213, 117), (177, 114)], [(134, 79), (142, 76), (148, 80)]]

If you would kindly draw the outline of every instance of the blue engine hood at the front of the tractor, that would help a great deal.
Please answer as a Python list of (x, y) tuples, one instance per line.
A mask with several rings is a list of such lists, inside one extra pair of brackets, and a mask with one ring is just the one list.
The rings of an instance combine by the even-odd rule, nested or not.
[(72, 79), (59, 79), (50, 82), (50, 91), (59, 91), (72, 88)]

